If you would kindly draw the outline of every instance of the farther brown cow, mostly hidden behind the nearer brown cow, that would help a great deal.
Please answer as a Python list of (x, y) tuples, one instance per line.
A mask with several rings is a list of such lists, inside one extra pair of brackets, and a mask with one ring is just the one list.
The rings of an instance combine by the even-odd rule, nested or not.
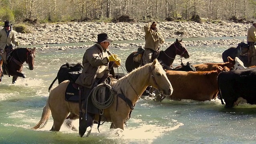
[[(228, 57), (228, 62), (225, 63), (205, 63), (205, 64), (196, 64), (193, 65), (196, 68), (196, 71), (211, 71), (211, 70), (216, 70), (217, 66), (221, 66), (224, 68), (224, 66), (230, 68), (234, 68), (234, 65), (236, 64), (236, 61), (233, 60), (232, 58)], [(234, 68), (236, 69), (236, 68)]]

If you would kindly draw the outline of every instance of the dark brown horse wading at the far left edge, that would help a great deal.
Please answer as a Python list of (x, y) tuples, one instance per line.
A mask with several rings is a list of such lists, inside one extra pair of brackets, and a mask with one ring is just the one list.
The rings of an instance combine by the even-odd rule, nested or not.
[(12, 83), (14, 84), (18, 77), (25, 78), (22, 74), (23, 63), (28, 64), (28, 69), (34, 69), (34, 58), (36, 48), (17, 48), (12, 50), (10, 57), (7, 60), (8, 74), (12, 77)]

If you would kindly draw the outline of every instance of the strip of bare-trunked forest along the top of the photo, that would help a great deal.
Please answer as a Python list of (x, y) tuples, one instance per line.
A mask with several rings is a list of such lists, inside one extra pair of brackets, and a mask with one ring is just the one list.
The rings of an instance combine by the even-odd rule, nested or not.
[(256, 0), (0, 0), (0, 22), (256, 19)]

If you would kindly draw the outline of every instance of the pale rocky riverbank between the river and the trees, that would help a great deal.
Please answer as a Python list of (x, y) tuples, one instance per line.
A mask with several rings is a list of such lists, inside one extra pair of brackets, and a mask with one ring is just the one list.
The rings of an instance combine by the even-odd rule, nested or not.
[[(76, 42), (95, 42), (97, 34), (107, 32), (109, 37), (114, 40), (112, 47), (123, 46), (144, 46), (144, 43), (127, 42), (120, 43), (123, 40), (144, 40), (143, 26), (146, 23), (136, 22), (72, 22), (65, 24), (38, 24), (28, 26), (31, 33), (18, 33), (20, 47), (25, 45), (41, 45), (38, 50), (47, 49), (67, 49), (67, 48), (85, 48), (91, 46), (75, 46)], [(250, 24), (240, 24), (234, 22), (196, 23), (196, 22), (158, 22), (158, 28), (164, 38), (204, 38), (204, 37), (235, 37), (246, 36)], [(246, 39), (228, 39), (228, 40), (183, 40), (186, 46), (212, 46), (212, 45), (237, 45)], [(72, 46), (48, 46), (48, 44), (74, 43)], [(162, 47), (170, 46), (172, 41), (165, 42)]]

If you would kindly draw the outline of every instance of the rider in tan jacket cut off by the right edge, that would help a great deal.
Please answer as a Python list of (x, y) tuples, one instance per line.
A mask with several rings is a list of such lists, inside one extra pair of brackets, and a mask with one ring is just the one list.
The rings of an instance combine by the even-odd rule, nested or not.
[(248, 59), (251, 66), (256, 65), (256, 20), (252, 22), (252, 26), (248, 29), (247, 43), (249, 44)]

